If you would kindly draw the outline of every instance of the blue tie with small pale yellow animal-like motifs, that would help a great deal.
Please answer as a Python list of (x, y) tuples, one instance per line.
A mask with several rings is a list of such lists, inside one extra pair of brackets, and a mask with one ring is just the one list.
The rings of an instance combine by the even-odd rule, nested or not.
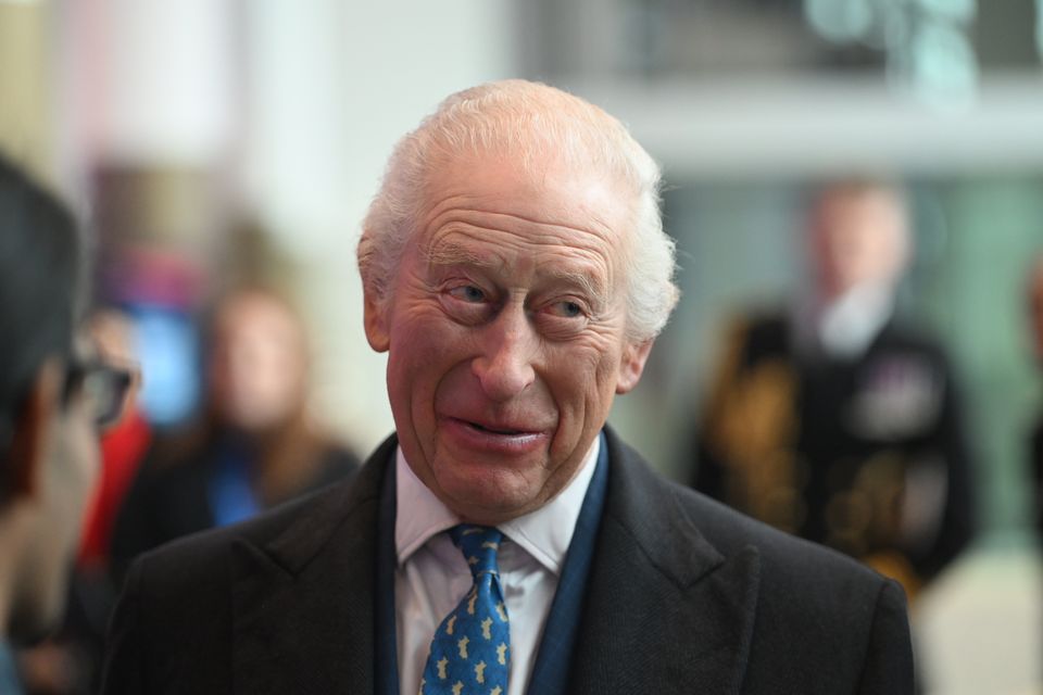
[(475, 583), (435, 631), (420, 695), (506, 695), (511, 626), (497, 566), (503, 534), (466, 523), (449, 534), (467, 558)]

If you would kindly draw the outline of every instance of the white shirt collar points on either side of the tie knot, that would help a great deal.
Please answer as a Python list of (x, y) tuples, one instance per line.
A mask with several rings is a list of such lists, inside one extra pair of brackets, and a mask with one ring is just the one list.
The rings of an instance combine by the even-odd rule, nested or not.
[[(594, 475), (601, 452), (601, 435), (583, 458), (579, 472), (571, 482), (545, 505), (498, 528), (544, 568), (561, 573), (568, 544), (576, 530), (576, 519), (583, 506), (587, 488)], [(399, 446), (395, 452), (395, 519), (394, 546), (401, 567), (431, 536), (460, 523), (460, 517), (427, 489), (410, 468)], [(409, 510), (406, 513), (405, 510)]]

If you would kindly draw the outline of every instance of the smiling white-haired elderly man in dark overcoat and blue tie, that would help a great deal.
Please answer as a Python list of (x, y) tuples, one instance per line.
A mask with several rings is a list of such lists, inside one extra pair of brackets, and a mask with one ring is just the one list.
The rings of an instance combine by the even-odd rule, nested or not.
[(905, 693), (901, 589), (607, 428), (675, 303), (658, 172), (589, 103), (450, 97), (359, 245), (397, 434), (352, 480), (144, 556), (108, 693)]

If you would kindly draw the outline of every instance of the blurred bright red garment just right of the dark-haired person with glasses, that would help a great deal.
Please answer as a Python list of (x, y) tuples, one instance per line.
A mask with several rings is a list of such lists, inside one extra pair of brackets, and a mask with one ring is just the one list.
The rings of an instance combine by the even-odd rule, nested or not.
[(102, 435), (101, 479), (87, 507), (79, 567), (103, 566), (109, 561), (116, 515), (151, 441), (152, 428), (137, 408), (130, 409), (118, 425)]

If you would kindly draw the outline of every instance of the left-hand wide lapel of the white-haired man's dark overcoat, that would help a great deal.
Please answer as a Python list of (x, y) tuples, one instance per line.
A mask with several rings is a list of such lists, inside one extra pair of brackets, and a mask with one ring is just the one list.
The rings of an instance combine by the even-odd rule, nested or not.
[(233, 547), (236, 693), (373, 692), (379, 490), (393, 446), (269, 542)]

